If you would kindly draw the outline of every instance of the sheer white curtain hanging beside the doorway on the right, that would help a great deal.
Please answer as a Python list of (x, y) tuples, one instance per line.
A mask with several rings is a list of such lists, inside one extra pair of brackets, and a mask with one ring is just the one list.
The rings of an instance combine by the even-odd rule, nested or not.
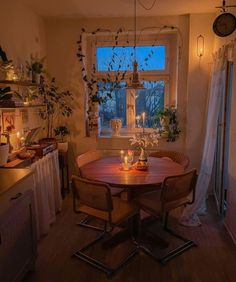
[(226, 91), (229, 48), (231, 48), (229, 45), (223, 46), (213, 55), (206, 135), (201, 167), (196, 185), (196, 199), (192, 205), (185, 208), (182, 217), (180, 218), (180, 223), (186, 226), (201, 225), (198, 214), (206, 212), (205, 201), (214, 162), (218, 116), (220, 112), (220, 105)]

